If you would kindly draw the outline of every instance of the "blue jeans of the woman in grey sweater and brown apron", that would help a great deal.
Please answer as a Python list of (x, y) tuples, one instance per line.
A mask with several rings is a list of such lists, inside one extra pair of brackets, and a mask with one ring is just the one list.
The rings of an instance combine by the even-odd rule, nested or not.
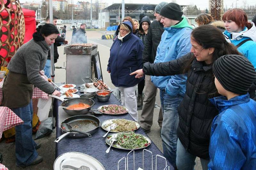
[(12, 109), (12, 111), (24, 121), (23, 124), (15, 126), (15, 155), (16, 165), (30, 165), (38, 156), (32, 137), (32, 101), (27, 106)]

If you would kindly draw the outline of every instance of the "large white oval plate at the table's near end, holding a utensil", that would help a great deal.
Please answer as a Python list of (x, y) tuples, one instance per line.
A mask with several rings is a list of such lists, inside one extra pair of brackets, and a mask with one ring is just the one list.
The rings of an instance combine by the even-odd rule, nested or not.
[(105, 170), (104, 166), (95, 158), (80, 152), (67, 152), (60, 155), (54, 161), (54, 170), (62, 170), (63, 165), (79, 168), (87, 166), (90, 170)]

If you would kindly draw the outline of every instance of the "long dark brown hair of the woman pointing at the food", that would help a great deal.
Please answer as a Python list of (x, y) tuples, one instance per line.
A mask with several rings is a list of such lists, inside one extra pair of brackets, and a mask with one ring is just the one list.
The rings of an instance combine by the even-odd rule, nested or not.
[[(222, 34), (222, 32), (215, 26), (212, 25), (202, 25), (196, 27), (191, 32), (191, 40), (196, 41), (200, 46), (202, 46), (204, 49), (207, 48), (215, 48), (214, 52), (212, 54), (212, 63), (216, 61), (218, 58), (220, 58), (222, 55), (228, 55), (228, 54), (236, 54), (236, 55), (242, 55), (239, 53), (236, 49), (236, 47), (228, 43), (225, 39), (225, 36)], [(191, 69), (191, 64), (195, 60), (195, 57), (191, 57), (188, 62), (186, 62), (184, 67), (184, 73), (188, 72)], [(211, 64), (212, 64), (211, 63)], [(213, 92), (212, 94), (216, 93), (216, 88), (214, 85), (214, 77), (212, 74), (212, 83), (209, 84), (209, 86), (212, 86)]]

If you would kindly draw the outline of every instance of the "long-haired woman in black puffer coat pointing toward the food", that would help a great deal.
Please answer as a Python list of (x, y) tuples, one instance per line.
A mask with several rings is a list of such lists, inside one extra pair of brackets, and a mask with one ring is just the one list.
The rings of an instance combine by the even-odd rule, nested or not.
[(199, 157), (203, 170), (209, 162), (210, 131), (213, 118), (218, 110), (208, 100), (219, 96), (214, 85), (212, 63), (222, 55), (241, 55), (236, 47), (228, 43), (215, 26), (202, 25), (191, 33), (191, 52), (164, 63), (144, 63), (143, 69), (133, 72), (136, 78), (143, 74), (169, 76), (188, 75), (185, 96), (178, 107), (177, 158), (179, 170), (190, 170)]

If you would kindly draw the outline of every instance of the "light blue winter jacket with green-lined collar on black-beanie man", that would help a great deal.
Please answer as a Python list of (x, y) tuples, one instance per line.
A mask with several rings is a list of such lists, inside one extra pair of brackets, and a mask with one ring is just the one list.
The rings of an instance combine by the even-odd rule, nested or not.
[[(186, 18), (171, 27), (165, 27), (161, 41), (157, 47), (154, 63), (168, 62), (180, 58), (191, 49), (190, 34), (192, 27)], [(151, 76), (153, 84), (170, 96), (178, 94), (184, 96), (186, 91), (187, 76), (183, 74), (174, 76)]]

